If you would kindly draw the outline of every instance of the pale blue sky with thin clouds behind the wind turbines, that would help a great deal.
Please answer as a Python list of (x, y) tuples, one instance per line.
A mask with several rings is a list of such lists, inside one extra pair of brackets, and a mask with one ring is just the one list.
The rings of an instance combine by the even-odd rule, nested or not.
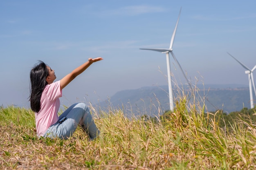
[[(0, 1), (0, 105), (29, 106), (29, 71), (38, 60), (57, 80), (101, 56), (63, 89), (61, 102), (97, 102), (117, 91), (167, 85), (166, 57), (139, 48), (168, 48), (198, 84), (245, 84), (256, 64), (256, 1)], [(173, 58), (171, 71), (186, 84)]]

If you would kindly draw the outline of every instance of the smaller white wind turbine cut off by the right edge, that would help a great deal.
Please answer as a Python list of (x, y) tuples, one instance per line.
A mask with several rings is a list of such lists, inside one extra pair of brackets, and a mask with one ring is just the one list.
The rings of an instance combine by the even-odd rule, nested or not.
[[(229, 53), (228, 53), (229, 54)], [(231, 54), (229, 54), (231, 57), (233, 57)], [(255, 93), (255, 97), (256, 97), (256, 90), (255, 90), (255, 84), (254, 84), (254, 79), (253, 79), (253, 74), (252, 72), (256, 69), (256, 65), (254, 66), (254, 68), (249, 69), (247, 66), (245, 66), (245, 64), (241, 63), (240, 61), (238, 61), (235, 57), (233, 57), (239, 64), (241, 64), (243, 66), (243, 68), (245, 68), (247, 71), (245, 71), (245, 74), (248, 74), (248, 78), (249, 78), (249, 91), (250, 91), (250, 103), (251, 103), (251, 108), (254, 108), (254, 101), (253, 101), (253, 95), (252, 95), (252, 85), (254, 88), (254, 93)]]

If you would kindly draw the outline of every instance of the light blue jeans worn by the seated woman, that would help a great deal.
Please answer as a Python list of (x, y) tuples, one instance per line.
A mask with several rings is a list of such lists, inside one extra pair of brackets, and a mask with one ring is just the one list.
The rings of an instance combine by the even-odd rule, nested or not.
[(73, 135), (79, 124), (88, 133), (91, 140), (99, 136), (100, 131), (94, 124), (90, 110), (84, 103), (73, 104), (59, 116), (59, 119), (62, 117), (66, 117), (66, 119), (50, 126), (43, 137), (67, 139)]

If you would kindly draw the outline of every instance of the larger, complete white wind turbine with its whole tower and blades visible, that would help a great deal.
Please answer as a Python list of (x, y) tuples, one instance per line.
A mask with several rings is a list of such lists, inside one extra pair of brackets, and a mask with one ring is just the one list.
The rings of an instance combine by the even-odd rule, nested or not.
[[(180, 9), (180, 13), (181, 13), (181, 9)], [(169, 90), (169, 102), (170, 102), (170, 110), (173, 111), (174, 110), (174, 105), (173, 105), (173, 89), (172, 89), (172, 84), (171, 84), (171, 68), (170, 68), (170, 57), (169, 57), (169, 53), (171, 53), (171, 55), (173, 56), (173, 59), (175, 60), (175, 62), (179, 65), (184, 77), (186, 78), (186, 74), (184, 73), (184, 71), (182, 70), (180, 63), (177, 61), (174, 53), (173, 53), (173, 42), (174, 42), (174, 38), (175, 38), (175, 34), (176, 34), (176, 30), (177, 30), (177, 26), (178, 26), (178, 22), (180, 20), (180, 13), (176, 22), (176, 26), (175, 29), (173, 31), (173, 35), (171, 38), (171, 44), (169, 49), (141, 49), (141, 50), (152, 50), (152, 51), (158, 51), (161, 53), (166, 53), (166, 62), (167, 62), (167, 71), (168, 71), (168, 90)], [(189, 83), (189, 80), (186, 78), (186, 81)], [(189, 86), (192, 89), (191, 84), (189, 83)]]

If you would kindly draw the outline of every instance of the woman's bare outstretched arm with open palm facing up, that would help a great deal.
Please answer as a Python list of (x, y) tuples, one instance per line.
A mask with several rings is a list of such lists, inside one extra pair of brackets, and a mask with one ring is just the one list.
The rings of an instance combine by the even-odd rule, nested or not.
[(74, 69), (71, 73), (67, 74), (61, 79), (61, 89), (63, 89), (67, 84), (69, 84), (76, 76), (83, 73), (92, 63), (103, 60), (101, 57), (89, 58), (87, 62), (83, 63), (81, 66)]

